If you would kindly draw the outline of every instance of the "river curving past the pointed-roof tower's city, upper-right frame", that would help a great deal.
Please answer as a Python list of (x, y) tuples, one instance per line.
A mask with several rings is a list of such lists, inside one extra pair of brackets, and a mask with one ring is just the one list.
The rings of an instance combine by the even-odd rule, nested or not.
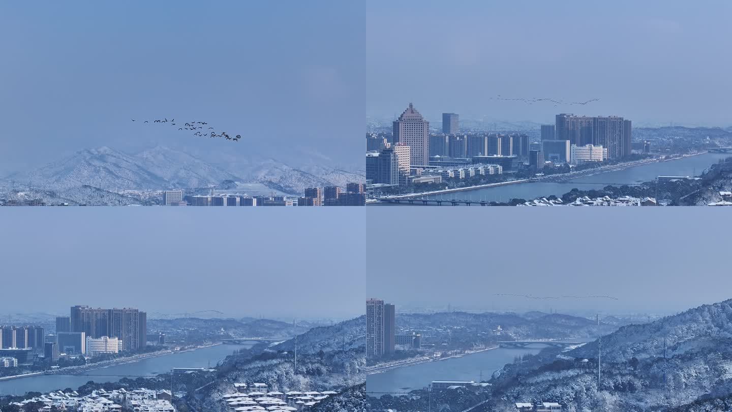
[[(510, 199), (531, 200), (542, 196), (561, 196), (571, 191), (572, 188), (588, 190), (593, 188), (603, 188), (608, 184), (617, 186), (643, 183), (655, 180), (656, 177), (664, 175), (695, 176), (701, 174), (704, 169), (712, 166), (714, 163), (717, 163), (720, 159), (728, 158), (730, 156), (731, 155), (729, 153), (703, 153), (701, 155), (679, 158), (672, 161), (641, 164), (639, 166), (633, 166), (615, 172), (604, 172), (594, 174), (592, 176), (577, 177), (563, 183), (516, 183), (514, 185), (502, 185), (445, 194), (433, 194), (425, 197), (430, 199), (466, 199), (485, 200), (488, 202), (507, 202)], [(380, 203), (377, 205), (394, 204)], [(414, 205), (417, 205), (417, 203)], [(421, 203), (419, 205), (421, 205)], [(443, 205), (450, 204), (444, 203)]]

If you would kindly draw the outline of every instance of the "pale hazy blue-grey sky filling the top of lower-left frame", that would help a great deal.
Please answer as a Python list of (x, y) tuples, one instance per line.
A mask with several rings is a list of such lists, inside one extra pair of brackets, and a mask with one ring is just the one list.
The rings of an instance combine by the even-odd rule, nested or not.
[[(225, 210), (224, 210), (225, 209)], [(307, 210), (305, 210), (307, 209)], [(365, 210), (18, 207), (4, 210), (0, 313), (75, 304), (176, 314), (360, 315)]]

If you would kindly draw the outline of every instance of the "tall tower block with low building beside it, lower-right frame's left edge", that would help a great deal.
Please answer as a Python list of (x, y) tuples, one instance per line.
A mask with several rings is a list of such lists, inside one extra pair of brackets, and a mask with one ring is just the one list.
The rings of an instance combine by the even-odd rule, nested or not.
[(397, 334), (395, 327), (395, 306), (385, 304), (381, 299), (366, 301), (366, 357), (379, 358), (394, 353), (397, 346), (419, 349), (422, 335)]

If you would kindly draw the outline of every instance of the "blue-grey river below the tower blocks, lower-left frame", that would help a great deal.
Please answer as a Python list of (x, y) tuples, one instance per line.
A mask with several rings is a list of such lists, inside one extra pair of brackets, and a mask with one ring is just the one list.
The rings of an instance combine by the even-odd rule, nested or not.
[[(215, 345), (187, 352), (146, 358), (129, 364), (119, 364), (83, 372), (84, 375), (36, 375), (27, 378), (0, 380), (0, 394), (24, 394), (27, 391), (49, 392), (56, 389), (78, 389), (89, 380), (116, 382), (124, 375), (154, 376), (170, 372), (174, 367), (214, 367), (234, 350), (252, 345)], [(134, 379), (134, 378), (133, 378)]]

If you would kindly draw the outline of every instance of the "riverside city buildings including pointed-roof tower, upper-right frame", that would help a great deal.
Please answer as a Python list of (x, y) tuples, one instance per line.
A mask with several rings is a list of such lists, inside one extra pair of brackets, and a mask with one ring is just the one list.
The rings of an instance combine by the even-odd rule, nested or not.
[[(523, 133), (460, 134), (458, 114), (442, 114), (442, 133), (429, 133), (429, 122), (410, 103), (393, 122), (392, 135), (366, 136), (366, 180), (369, 188), (410, 183), (441, 183), (446, 167), (478, 164), (510, 171), (517, 162), (542, 169), (546, 162), (580, 165), (622, 158), (634, 150), (632, 123), (617, 116), (557, 114), (554, 125), (541, 126), (541, 141)], [(635, 150), (648, 152), (649, 145)], [(436, 178), (440, 176), (440, 179)], [(464, 177), (463, 177), (464, 178)]]

